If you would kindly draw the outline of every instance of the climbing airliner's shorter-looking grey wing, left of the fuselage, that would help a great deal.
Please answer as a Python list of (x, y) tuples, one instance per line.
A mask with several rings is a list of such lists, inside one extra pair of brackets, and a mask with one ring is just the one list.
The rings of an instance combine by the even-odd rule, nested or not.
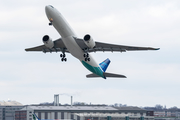
[(44, 53), (46, 52), (59, 52), (62, 50), (65, 50), (65, 52), (69, 52), (66, 48), (66, 46), (64, 45), (62, 39), (57, 39), (54, 41), (54, 47), (53, 48), (47, 48), (45, 45), (40, 45), (37, 47), (32, 47), (32, 48), (27, 48), (25, 49), (26, 51), (42, 51)]

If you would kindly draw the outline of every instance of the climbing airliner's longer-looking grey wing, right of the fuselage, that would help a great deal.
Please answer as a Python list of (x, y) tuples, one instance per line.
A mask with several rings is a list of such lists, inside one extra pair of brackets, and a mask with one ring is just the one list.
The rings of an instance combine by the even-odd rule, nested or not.
[(79, 44), (81, 49), (87, 50), (88, 52), (97, 52), (97, 51), (126, 52), (126, 51), (137, 51), (137, 50), (159, 50), (159, 48), (152, 48), (152, 47), (135, 47), (135, 46), (115, 45), (115, 44), (102, 43), (102, 42), (95, 42), (96, 46), (94, 48), (88, 48), (87, 45), (84, 43), (83, 39), (76, 39), (76, 42)]

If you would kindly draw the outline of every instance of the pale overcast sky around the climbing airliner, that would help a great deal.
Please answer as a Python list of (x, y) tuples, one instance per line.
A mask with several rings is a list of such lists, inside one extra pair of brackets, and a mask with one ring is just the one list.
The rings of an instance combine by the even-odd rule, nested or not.
[[(98, 63), (111, 60), (107, 72), (126, 79), (87, 79), (90, 72), (70, 54), (25, 52), (42, 45), (48, 34), (45, 6), (53, 5), (78, 37), (95, 41), (161, 48), (159, 51), (92, 53)], [(54, 94), (73, 95), (73, 101), (129, 106), (180, 108), (179, 0), (1, 0), (0, 100), (22, 104), (52, 102)], [(60, 103), (70, 97), (60, 95)]]

